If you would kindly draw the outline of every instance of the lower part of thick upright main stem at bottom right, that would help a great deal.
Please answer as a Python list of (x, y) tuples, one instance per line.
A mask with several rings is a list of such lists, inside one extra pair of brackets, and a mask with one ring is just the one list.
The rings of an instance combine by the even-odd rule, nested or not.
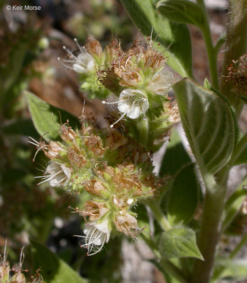
[(204, 261), (196, 259), (192, 270), (192, 283), (209, 283), (214, 267), (217, 246), (220, 240), (220, 227), (227, 191), (226, 170), (218, 174), (218, 189), (206, 188), (202, 223), (198, 238), (198, 248)]

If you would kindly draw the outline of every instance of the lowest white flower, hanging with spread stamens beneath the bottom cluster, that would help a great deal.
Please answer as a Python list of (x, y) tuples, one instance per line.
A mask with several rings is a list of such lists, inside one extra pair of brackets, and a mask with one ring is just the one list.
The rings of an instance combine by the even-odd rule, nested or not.
[[(105, 219), (101, 223), (96, 221), (88, 222), (84, 227), (83, 233), (85, 236), (75, 236), (84, 239), (84, 244), (81, 247), (87, 248), (87, 255), (95, 255), (102, 250), (105, 243), (109, 242), (109, 221)], [(91, 252), (94, 253), (90, 254)]]

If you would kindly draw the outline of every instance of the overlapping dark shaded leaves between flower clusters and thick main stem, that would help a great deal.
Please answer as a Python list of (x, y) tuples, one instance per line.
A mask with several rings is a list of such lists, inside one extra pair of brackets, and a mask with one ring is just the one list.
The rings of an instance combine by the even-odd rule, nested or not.
[(199, 185), (192, 160), (175, 128), (165, 150), (160, 175), (171, 174), (168, 193), (165, 195), (168, 221), (171, 225), (188, 223), (197, 207)]

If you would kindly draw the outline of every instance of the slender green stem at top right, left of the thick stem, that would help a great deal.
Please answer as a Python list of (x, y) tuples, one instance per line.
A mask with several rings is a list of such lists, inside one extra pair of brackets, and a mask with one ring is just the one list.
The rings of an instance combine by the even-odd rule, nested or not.
[(211, 31), (210, 31), (209, 22), (208, 22), (207, 10), (206, 10), (205, 3), (204, 3), (203, 0), (196, 0), (196, 3), (202, 7), (202, 9), (205, 13), (206, 23), (201, 28), (201, 31), (202, 31), (204, 41), (205, 41), (205, 45), (206, 45), (206, 49), (207, 49), (212, 86), (216, 90), (218, 90), (219, 89), (219, 83), (218, 83), (218, 72), (217, 72), (217, 53), (215, 52), (215, 48), (214, 48), (213, 42), (212, 42)]

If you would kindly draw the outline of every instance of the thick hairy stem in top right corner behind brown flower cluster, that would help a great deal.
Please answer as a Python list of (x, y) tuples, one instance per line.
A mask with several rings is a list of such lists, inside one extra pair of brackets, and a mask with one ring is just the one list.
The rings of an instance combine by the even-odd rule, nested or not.
[[(229, 0), (229, 17), (226, 32), (224, 61), (222, 65), (222, 76), (228, 75), (227, 66), (232, 60), (238, 60), (247, 52), (247, 1)], [(228, 99), (231, 105), (240, 112), (243, 103), (239, 95), (232, 93), (233, 85), (225, 78), (221, 81), (221, 93)]]

